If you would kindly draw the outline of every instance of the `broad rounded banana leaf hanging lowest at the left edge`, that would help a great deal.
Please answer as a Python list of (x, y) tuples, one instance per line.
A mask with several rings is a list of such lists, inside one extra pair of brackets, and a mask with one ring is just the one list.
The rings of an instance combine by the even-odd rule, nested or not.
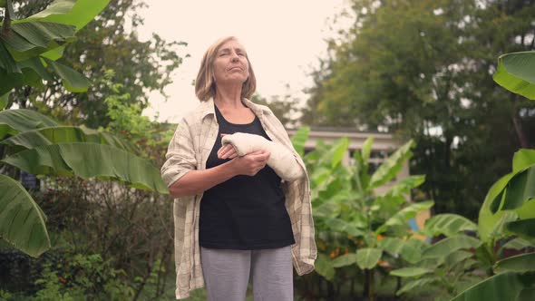
[(2, 174), (0, 191), (0, 238), (39, 257), (50, 248), (43, 211), (19, 182)]

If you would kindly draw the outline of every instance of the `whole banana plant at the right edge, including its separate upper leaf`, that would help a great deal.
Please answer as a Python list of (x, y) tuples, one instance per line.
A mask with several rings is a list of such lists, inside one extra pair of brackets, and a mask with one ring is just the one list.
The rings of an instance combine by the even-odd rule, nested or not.
[[(494, 80), (501, 86), (535, 99), (535, 52), (507, 53), (499, 58)], [(489, 189), (480, 209), (478, 225), (461, 216), (444, 214), (430, 218), (424, 228), (428, 236), (447, 238), (424, 250), (416, 267), (391, 274), (411, 277), (398, 294), (418, 286), (440, 284), (452, 300), (528, 300), (535, 296), (535, 252), (504, 257), (505, 249), (535, 248), (535, 150), (518, 150), (511, 173)], [(472, 231), (478, 238), (469, 238)], [(475, 252), (470, 252), (475, 249)], [(427, 254), (427, 256), (426, 256)], [(429, 254), (435, 261), (429, 262)], [(444, 270), (443, 264), (446, 267)], [(474, 281), (473, 273), (485, 271), (488, 278)], [(457, 284), (465, 278), (469, 281)], [(447, 281), (445, 281), (447, 280)], [(460, 281), (462, 282), (462, 281)], [(472, 286), (467, 287), (467, 284)]]

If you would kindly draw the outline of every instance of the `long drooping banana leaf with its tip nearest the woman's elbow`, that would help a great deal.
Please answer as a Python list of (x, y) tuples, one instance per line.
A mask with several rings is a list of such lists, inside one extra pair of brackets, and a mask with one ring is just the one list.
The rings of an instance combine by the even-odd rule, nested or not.
[(169, 194), (160, 170), (124, 150), (94, 143), (58, 143), (15, 153), (2, 160), (33, 174), (78, 175), (120, 180), (137, 189)]

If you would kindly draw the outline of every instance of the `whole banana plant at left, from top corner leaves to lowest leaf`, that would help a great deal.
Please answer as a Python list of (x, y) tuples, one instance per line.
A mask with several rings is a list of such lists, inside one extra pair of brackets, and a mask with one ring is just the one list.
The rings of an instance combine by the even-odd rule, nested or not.
[[(11, 20), (11, 0), (5, 5), (0, 35), (0, 94), (21, 85), (38, 85), (51, 78), (63, 79), (67, 90), (83, 92), (89, 81), (63, 64), (56, 63), (65, 44), (90, 22), (109, 0), (56, 0), (44, 11), (22, 20)], [(2, 107), (3, 109), (4, 107)], [(30, 110), (0, 112), (0, 164), (37, 175), (96, 177), (119, 180), (137, 189), (169, 193), (160, 172), (137, 156), (130, 142), (109, 133), (83, 127), (63, 126)], [(0, 174), (0, 238), (25, 253), (38, 257), (50, 248), (45, 215), (34, 199), (12, 177)]]

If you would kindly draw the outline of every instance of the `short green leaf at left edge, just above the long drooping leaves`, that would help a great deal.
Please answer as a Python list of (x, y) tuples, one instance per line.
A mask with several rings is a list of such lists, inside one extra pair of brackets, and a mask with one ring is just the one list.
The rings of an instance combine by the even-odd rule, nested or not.
[(0, 140), (6, 134), (15, 135), (20, 131), (60, 125), (40, 112), (18, 109), (0, 112)]

